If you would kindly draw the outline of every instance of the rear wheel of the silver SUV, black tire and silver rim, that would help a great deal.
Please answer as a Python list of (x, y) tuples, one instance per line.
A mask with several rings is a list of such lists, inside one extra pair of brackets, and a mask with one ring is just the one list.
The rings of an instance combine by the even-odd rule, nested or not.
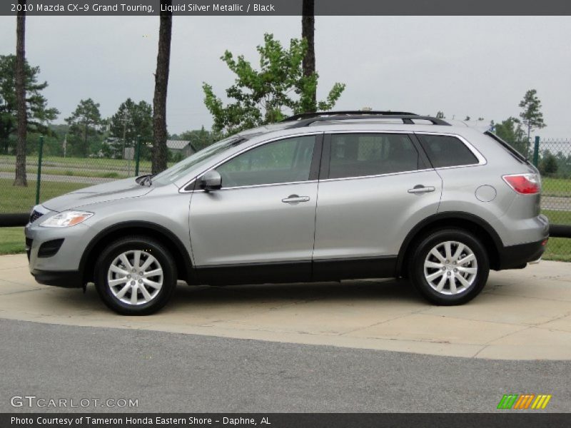
[(435, 230), (425, 235), (413, 250), (410, 266), (410, 280), (418, 292), (429, 302), (445, 306), (472, 300), (490, 273), (484, 246), (463, 229)]

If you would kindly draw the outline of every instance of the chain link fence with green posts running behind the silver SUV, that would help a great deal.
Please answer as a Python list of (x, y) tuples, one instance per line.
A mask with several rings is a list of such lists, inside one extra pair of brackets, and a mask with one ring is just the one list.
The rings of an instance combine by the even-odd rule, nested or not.
[[(34, 146), (35, 145), (35, 146)], [(169, 141), (169, 165), (194, 152), (189, 141)], [(125, 146), (118, 141), (108, 153), (86, 153), (83, 157), (66, 156), (61, 147), (54, 150), (39, 141), (26, 156), (27, 187), (14, 186), (16, 156), (0, 155), (0, 215), (27, 214), (37, 201), (48, 200), (73, 190), (98, 183), (151, 173), (150, 148), (140, 142)], [(532, 159), (542, 175), (542, 213), (552, 225), (571, 227), (571, 139), (542, 139), (512, 146)], [(567, 235), (562, 235), (567, 236)], [(571, 260), (571, 240), (553, 238), (548, 250)]]

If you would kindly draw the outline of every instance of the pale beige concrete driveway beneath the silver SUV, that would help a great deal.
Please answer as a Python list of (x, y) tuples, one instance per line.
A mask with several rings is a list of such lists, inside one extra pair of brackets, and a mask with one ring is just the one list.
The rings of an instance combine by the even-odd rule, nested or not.
[(571, 265), (491, 272), (468, 305), (436, 307), (405, 281), (188, 287), (150, 317), (107, 310), (93, 286), (37, 284), (0, 257), (0, 318), (501, 360), (571, 360)]

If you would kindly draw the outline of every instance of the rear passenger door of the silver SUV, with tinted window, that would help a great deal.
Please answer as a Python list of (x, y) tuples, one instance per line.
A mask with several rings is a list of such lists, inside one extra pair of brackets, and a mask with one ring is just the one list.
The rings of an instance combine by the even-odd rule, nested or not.
[(442, 180), (407, 133), (325, 136), (315, 279), (391, 276), (405, 236), (437, 213)]

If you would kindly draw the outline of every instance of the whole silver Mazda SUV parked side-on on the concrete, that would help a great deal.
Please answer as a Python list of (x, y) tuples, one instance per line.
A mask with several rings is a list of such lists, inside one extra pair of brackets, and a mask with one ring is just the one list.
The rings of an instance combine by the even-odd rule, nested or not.
[(125, 315), (163, 307), (177, 280), (408, 277), (430, 302), (459, 305), (490, 269), (539, 260), (540, 190), (493, 133), (412, 113), (311, 113), (37, 205), (26, 247), (38, 282), (94, 282)]

